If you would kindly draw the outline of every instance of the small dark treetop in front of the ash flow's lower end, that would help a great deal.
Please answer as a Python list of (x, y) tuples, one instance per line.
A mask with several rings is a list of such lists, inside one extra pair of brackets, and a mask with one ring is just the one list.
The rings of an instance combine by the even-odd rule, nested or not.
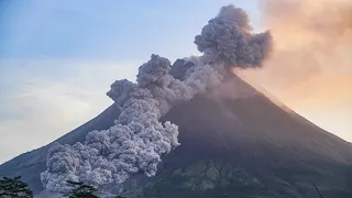
[(69, 193), (64, 194), (68, 198), (99, 198), (95, 195), (97, 189), (92, 186), (85, 185), (84, 183), (77, 183), (72, 180), (66, 180), (73, 189)]

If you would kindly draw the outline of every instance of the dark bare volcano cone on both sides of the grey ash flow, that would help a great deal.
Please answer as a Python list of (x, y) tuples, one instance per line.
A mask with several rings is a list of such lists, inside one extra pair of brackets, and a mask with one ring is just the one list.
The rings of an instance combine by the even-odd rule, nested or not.
[[(57, 140), (84, 142), (108, 129), (116, 105)], [(178, 146), (163, 156), (154, 177), (136, 174), (124, 183), (127, 197), (352, 197), (352, 144), (273, 102), (235, 75), (215, 90), (173, 107), (163, 121), (179, 127)], [(0, 166), (0, 176), (22, 176), (38, 197), (51, 144)], [(107, 191), (114, 191), (107, 186)]]

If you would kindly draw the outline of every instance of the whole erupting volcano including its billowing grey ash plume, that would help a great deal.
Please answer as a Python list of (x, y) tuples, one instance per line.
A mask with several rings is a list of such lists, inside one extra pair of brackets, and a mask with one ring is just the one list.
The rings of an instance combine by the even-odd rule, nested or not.
[(352, 197), (352, 145), (234, 75), (270, 58), (270, 31), (222, 7), (195, 36), (200, 56), (174, 65), (153, 54), (136, 82), (118, 79), (114, 101), (54, 143), (0, 166), (37, 197), (59, 197), (67, 180), (100, 197)]

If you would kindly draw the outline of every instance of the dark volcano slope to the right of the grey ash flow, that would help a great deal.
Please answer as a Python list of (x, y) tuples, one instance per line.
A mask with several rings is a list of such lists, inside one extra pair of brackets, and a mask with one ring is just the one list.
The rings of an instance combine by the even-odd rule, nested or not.
[[(160, 172), (164, 182), (151, 191), (188, 191), (183, 197), (315, 197), (315, 183), (324, 197), (352, 196), (350, 143), (283, 111), (261, 94), (216, 96), (221, 97), (194, 99), (166, 116), (182, 127), (182, 146), (166, 156), (168, 167)], [(186, 158), (190, 162), (183, 163)], [(212, 165), (217, 163), (218, 167)], [(224, 174), (211, 180), (209, 169)]]

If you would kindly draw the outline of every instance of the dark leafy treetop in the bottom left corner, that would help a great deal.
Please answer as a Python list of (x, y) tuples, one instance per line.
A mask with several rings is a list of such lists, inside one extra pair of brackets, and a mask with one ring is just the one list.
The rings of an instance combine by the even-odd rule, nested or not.
[(0, 198), (33, 198), (29, 185), (21, 180), (21, 176), (0, 179)]

